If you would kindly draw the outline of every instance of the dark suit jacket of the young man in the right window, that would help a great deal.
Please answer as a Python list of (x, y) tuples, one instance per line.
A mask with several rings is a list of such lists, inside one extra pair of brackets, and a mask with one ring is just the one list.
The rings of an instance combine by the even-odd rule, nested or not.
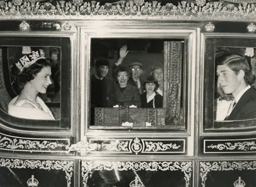
[(236, 103), (225, 120), (249, 120), (256, 118), (256, 90), (249, 88)]

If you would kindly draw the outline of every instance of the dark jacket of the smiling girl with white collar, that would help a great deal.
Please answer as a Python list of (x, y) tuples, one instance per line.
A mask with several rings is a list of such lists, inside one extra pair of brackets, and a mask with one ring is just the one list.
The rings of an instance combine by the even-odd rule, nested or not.
[(154, 99), (147, 102), (147, 92), (140, 95), (141, 107), (142, 108), (154, 108), (153, 102), (155, 103), (155, 108), (163, 108), (163, 97), (156, 92)]

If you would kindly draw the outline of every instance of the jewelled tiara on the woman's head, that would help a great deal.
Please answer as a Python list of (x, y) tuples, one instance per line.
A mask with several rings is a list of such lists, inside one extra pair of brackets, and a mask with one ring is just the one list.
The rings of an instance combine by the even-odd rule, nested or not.
[(25, 68), (34, 64), (39, 59), (45, 59), (45, 52), (43, 49), (39, 49), (39, 52), (32, 51), (32, 53), (24, 55), (15, 65), (20, 70), (20, 72), (22, 72)]

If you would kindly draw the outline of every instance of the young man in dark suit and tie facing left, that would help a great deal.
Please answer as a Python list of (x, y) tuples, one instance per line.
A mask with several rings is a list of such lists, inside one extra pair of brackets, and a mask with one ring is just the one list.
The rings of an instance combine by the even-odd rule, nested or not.
[(256, 118), (256, 90), (250, 86), (254, 76), (247, 59), (228, 53), (216, 59), (218, 84), (225, 94), (234, 97), (225, 120)]

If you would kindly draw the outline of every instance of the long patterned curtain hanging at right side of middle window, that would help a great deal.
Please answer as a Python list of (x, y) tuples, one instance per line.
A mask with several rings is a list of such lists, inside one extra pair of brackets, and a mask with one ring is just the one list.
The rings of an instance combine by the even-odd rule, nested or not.
[(183, 47), (181, 41), (164, 42), (164, 107), (166, 107), (165, 124), (183, 127), (183, 111), (181, 107), (181, 90), (183, 77)]

